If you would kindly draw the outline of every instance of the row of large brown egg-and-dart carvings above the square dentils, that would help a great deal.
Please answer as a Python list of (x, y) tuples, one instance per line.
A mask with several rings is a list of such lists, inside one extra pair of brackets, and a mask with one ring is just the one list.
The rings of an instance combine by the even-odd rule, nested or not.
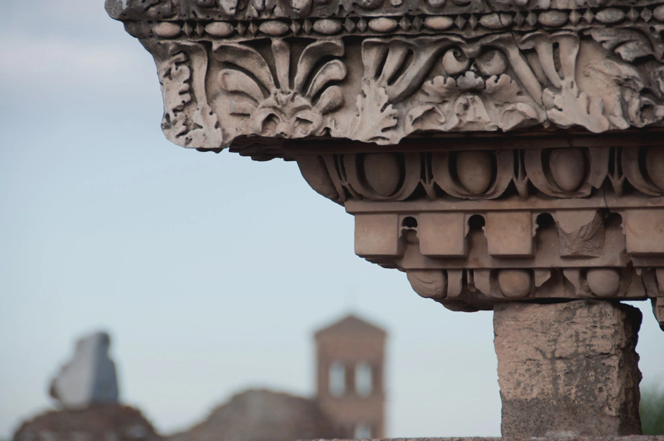
[(452, 197), (491, 200), (518, 194), (584, 198), (598, 189), (664, 195), (664, 147), (591, 147), (346, 153), (297, 156), (318, 193), (347, 200)]

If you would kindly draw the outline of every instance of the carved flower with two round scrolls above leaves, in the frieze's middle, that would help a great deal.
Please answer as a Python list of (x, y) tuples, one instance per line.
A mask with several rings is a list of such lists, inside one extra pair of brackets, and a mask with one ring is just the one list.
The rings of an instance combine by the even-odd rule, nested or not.
[(423, 84), (423, 104), (407, 114), (407, 134), (418, 129), (509, 131), (546, 119), (538, 103), (540, 88), (534, 88), (533, 97), (519, 84), (519, 76), (526, 84), (535, 84), (535, 78), (515, 56), (510, 36), (451, 48), (443, 55), (442, 66), (445, 74)]

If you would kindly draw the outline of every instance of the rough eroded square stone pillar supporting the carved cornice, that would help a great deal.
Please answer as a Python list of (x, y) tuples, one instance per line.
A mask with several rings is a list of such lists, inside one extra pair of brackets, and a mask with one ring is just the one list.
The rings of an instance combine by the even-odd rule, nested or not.
[(640, 434), (640, 324), (611, 301), (497, 304), (502, 435)]

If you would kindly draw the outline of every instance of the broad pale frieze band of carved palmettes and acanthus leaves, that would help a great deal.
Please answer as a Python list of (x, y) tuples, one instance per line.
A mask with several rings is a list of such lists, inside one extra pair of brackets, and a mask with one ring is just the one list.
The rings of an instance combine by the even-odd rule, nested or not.
[(662, 126), (664, 66), (628, 31), (369, 37), (348, 51), (336, 37), (143, 42), (169, 140), (218, 150), (252, 135), (398, 144), (436, 132)]

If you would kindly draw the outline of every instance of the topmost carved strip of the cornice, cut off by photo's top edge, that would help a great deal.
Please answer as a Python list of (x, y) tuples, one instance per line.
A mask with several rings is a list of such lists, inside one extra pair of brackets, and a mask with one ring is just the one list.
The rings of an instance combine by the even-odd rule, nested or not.
[[(212, 20), (248, 18), (356, 17), (358, 15), (468, 15), (518, 12), (531, 26), (562, 26), (597, 19), (604, 24), (627, 18), (661, 19), (656, 0), (107, 0), (120, 20)], [(564, 11), (564, 12), (561, 12)], [(574, 11), (574, 12), (571, 12)], [(643, 12), (646, 11), (646, 12)], [(517, 19), (518, 20), (518, 19)], [(520, 24), (519, 24), (520, 26)]]

